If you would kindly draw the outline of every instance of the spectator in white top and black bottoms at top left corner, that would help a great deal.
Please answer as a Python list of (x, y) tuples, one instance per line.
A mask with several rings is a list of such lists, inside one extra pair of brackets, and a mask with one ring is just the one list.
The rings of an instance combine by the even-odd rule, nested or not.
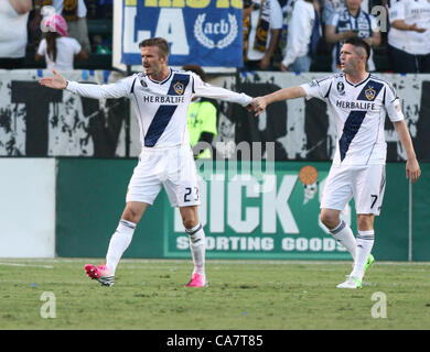
[(31, 0), (0, 1), (0, 68), (21, 68), (26, 48)]

